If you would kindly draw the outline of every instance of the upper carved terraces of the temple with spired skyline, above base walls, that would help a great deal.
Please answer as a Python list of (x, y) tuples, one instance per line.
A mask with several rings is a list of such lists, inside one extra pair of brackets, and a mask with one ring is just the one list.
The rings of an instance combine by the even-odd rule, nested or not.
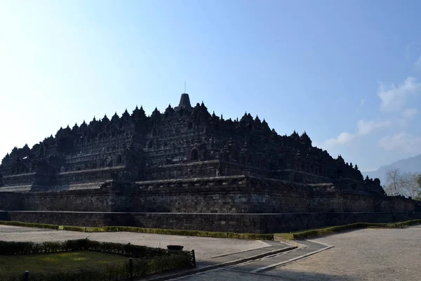
[[(69, 120), (71, 122), (72, 120)], [(382, 195), (356, 164), (312, 146), (303, 132), (280, 136), (265, 119), (224, 119), (183, 93), (178, 106), (147, 116), (142, 106), (60, 128), (29, 148), (13, 148), (0, 185), (57, 188), (81, 183), (247, 175), (298, 183), (346, 183)], [(368, 188), (368, 186), (370, 188)]]

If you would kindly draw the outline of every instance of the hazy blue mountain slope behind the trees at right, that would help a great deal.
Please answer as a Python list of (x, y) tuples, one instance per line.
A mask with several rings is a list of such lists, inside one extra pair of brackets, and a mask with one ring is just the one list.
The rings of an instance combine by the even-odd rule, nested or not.
[(386, 184), (386, 173), (390, 169), (399, 169), (403, 173), (420, 173), (421, 174), (421, 155), (410, 157), (407, 159), (401, 159), (393, 162), (392, 164), (381, 166), (375, 171), (363, 171), (364, 177), (379, 178), (382, 185)]

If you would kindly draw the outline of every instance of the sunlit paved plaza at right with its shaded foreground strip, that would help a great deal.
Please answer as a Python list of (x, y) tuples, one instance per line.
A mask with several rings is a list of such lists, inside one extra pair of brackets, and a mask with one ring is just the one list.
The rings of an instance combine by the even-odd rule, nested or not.
[[(421, 280), (421, 226), (354, 230), (312, 242), (334, 247), (258, 273), (248, 269), (255, 271), (253, 263), (245, 263), (244, 266), (219, 268), (177, 280)], [(276, 264), (283, 255), (286, 254), (268, 260)], [(262, 260), (255, 263), (262, 263)]]

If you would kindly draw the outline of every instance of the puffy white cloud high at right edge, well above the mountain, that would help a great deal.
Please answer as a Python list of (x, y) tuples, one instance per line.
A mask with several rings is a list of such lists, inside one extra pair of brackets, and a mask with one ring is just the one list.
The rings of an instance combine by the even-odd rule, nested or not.
[(380, 104), (380, 111), (382, 112), (397, 112), (405, 105), (408, 96), (419, 93), (421, 84), (417, 83), (414, 77), (408, 77), (403, 81), (403, 84), (389, 86), (380, 83), (377, 96), (382, 100)]

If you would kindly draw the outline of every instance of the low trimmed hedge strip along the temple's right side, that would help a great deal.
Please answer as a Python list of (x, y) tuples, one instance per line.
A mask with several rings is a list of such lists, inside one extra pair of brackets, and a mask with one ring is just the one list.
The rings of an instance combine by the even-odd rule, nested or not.
[(412, 221), (403, 221), (399, 223), (352, 223), (345, 226), (331, 226), (328, 228), (319, 228), (314, 230), (304, 230), (298, 231), (295, 233), (279, 233), (276, 236), (279, 236), (288, 240), (298, 240), (304, 239), (307, 237), (316, 237), (329, 235), (333, 233), (340, 233), (345, 230), (360, 229), (360, 228), (403, 228), (405, 226), (413, 226), (415, 224), (421, 223), (421, 219), (415, 219)]

